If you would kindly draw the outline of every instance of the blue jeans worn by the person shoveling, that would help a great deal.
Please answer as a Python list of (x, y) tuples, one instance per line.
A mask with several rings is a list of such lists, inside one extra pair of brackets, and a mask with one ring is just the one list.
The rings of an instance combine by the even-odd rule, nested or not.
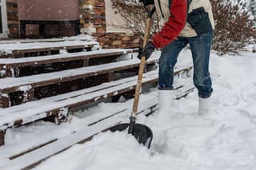
[(166, 45), (159, 59), (159, 89), (173, 89), (174, 65), (177, 62), (178, 53), (190, 44), (194, 65), (193, 81), (198, 89), (198, 96), (210, 97), (213, 92), (209, 72), (212, 37), (212, 32), (191, 38), (178, 37), (174, 42)]

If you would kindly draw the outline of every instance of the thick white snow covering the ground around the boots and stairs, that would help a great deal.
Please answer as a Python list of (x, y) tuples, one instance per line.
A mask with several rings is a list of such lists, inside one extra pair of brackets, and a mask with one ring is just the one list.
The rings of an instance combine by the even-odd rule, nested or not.
[[(183, 51), (182, 55), (191, 57), (189, 50)], [(51, 157), (34, 169), (254, 170), (255, 65), (255, 53), (245, 52), (242, 56), (218, 57), (212, 52), (210, 70), (214, 93), (211, 97), (210, 114), (198, 117), (198, 95), (195, 90), (186, 98), (170, 101), (172, 110), (164, 115), (164, 119), (159, 119), (158, 113), (150, 117), (139, 116), (138, 121), (149, 126), (154, 133), (150, 149), (138, 144), (134, 137), (126, 132), (104, 132), (86, 144), (76, 144)], [(188, 77), (186, 81), (192, 83), (192, 78)], [(148, 99), (157, 98), (156, 96), (156, 89), (142, 95)], [(100, 104), (92, 109), (79, 111), (75, 113), (77, 116), (70, 125), (54, 126), (38, 122), (33, 128), (13, 128), (7, 131), (6, 145), (10, 147), (13, 144), (15, 149), (15, 142), (25, 138), (27, 140), (28, 137), (31, 139), (27, 140), (28, 143), (36, 143), (36, 136), (43, 129), (50, 129), (53, 136), (62, 136), (82, 125), (84, 122), (81, 120), (85, 119), (87, 114), (109, 112), (124, 105), (131, 107), (131, 104), (132, 100), (119, 104)], [(50, 138), (49, 135), (50, 133), (45, 137)]]

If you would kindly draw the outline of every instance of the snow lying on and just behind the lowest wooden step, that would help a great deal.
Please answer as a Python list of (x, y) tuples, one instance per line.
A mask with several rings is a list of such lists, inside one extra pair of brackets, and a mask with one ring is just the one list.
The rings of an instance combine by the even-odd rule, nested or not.
[[(148, 100), (146, 101), (146, 104), (150, 104), (150, 105), (153, 105), (155, 103), (156, 103), (155, 98), (153, 98), (153, 100), (151, 99), (150, 101)], [(139, 106), (138, 111), (142, 110), (143, 107), (147, 107), (147, 105), (145, 105), (145, 100), (142, 100), (141, 104), (142, 105)], [(99, 130), (108, 128), (110, 125), (114, 125), (114, 123), (122, 121), (124, 117), (126, 120), (126, 116), (130, 113), (130, 109), (126, 108), (127, 105), (122, 105), (122, 104), (121, 105), (113, 104), (111, 106), (110, 105), (101, 104), (101, 106), (104, 109), (102, 109), (102, 107), (96, 107), (94, 110), (97, 110), (97, 114), (94, 112), (90, 112), (90, 113), (84, 112), (83, 116), (79, 114), (79, 117), (84, 117), (84, 118), (78, 120), (76, 117), (74, 117), (74, 121), (72, 122), (75, 122), (75, 123), (69, 124), (69, 125), (62, 124), (60, 126), (55, 126), (55, 128), (53, 128), (53, 126), (49, 125), (49, 123), (40, 124), (39, 122), (37, 123), (37, 128), (35, 128), (33, 131), (32, 131), (33, 128), (30, 128), (29, 129), (30, 132), (26, 131), (27, 133), (24, 134), (25, 136), (29, 136), (29, 137), (37, 136), (36, 139), (26, 141), (25, 143), (22, 143), (20, 147), (17, 147), (17, 144), (15, 144), (13, 141), (18, 140), (18, 142), (21, 143), (22, 141), (24, 141), (24, 138), (22, 139), (22, 136), (15, 135), (14, 134), (15, 132), (9, 132), (6, 138), (10, 137), (10, 140), (12, 140), (12, 142), (7, 141), (7, 144), (4, 147), (0, 148), (0, 152), (3, 153), (2, 155), (0, 155), (0, 159), (2, 160), (0, 162), (0, 169), (25, 168), (27, 165), (32, 164), (35, 161), (43, 159), (47, 156), (51, 156), (56, 152), (62, 151), (63, 148), (70, 147), (70, 144), (75, 144), (80, 140), (86, 139), (86, 137), (94, 135)], [(113, 106), (114, 106), (114, 109), (113, 109)], [(114, 119), (110, 119), (110, 120), (107, 119), (106, 121), (102, 121), (98, 124), (95, 124), (94, 126), (91, 126), (92, 123), (94, 123), (95, 121), (98, 121), (99, 118), (108, 117), (117, 112), (119, 112), (120, 114), (114, 115)], [(58, 129), (56, 129), (56, 127)], [(22, 128), (24, 130), (24, 127)], [(23, 131), (22, 128), (18, 128), (17, 130), (20, 131), (21, 129), (21, 131)], [(31, 133), (33, 134), (32, 136), (31, 136)], [(39, 134), (42, 134), (42, 135), (38, 136)], [(47, 141), (55, 140), (56, 138), (54, 138), (54, 136), (58, 137), (58, 141), (54, 142), (53, 144), (48, 144), (44, 148), (40, 148), (33, 152), (29, 152), (25, 156), (18, 157), (15, 160), (8, 161), (6, 159), (6, 157), (13, 156), (15, 152), (16, 153), (18, 151), (22, 152), (22, 148), (24, 149), (26, 148), (27, 145), (33, 144), (35, 141), (38, 140), (38, 138), (40, 138), (41, 140), (44, 141), (44, 143), (46, 143)], [(4, 163), (6, 163), (5, 166), (1, 167), (1, 165)]]

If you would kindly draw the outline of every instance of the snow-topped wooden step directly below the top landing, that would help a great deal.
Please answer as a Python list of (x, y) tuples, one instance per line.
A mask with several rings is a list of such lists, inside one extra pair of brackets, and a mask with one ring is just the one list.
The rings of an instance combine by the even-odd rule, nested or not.
[[(75, 65), (76, 68), (96, 64), (106, 64), (108, 62), (113, 62), (117, 57), (123, 54), (133, 52), (134, 49), (101, 49), (80, 53), (62, 53), (44, 57), (4, 58), (0, 59), (0, 72), (2, 72), (2, 74), (0, 73), (0, 77), (21, 77), (23, 69), (31, 70), (38, 68), (37, 70), (39, 70), (46, 66), (47, 68), (53, 69), (50, 72), (69, 69), (70, 61), (80, 61), (78, 63), (80, 65)], [(31, 71), (26, 71), (26, 76), (33, 74), (30, 72)], [(40, 73), (40, 71), (38, 71), (38, 73)]]

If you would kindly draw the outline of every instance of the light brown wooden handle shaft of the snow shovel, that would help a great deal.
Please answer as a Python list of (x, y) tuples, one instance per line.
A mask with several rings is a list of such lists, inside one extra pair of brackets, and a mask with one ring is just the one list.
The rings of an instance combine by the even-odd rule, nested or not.
[[(147, 18), (146, 19), (146, 31), (145, 31), (145, 35), (144, 35), (143, 47), (146, 46), (146, 43), (148, 42), (148, 40), (150, 38), (151, 21), (152, 21), (152, 18)], [(135, 89), (134, 106), (133, 106), (133, 110), (132, 110), (132, 113), (131, 113), (131, 117), (136, 117), (136, 115), (137, 115), (138, 101), (139, 101), (139, 96), (140, 96), (141, 89), (142, 89), (142, 77), (143, 77), (143, 71), (144, 71), (145, 63), (146, 63), (146, 57), (142, 56), (141, 63), (139, 65), (138, 81), (137, 81), (137, 85), (136, 85), (136, 89)]]

